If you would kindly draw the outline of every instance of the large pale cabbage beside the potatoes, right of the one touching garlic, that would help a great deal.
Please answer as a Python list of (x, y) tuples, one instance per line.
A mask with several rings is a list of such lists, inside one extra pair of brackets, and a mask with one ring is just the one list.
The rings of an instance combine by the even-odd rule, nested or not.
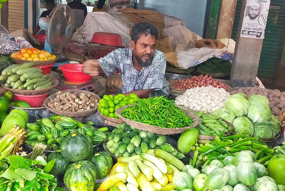
[(253, 103), (248, 107), (248, 118), (253, 123), (270, 121), (271, 109), (263, 103)]

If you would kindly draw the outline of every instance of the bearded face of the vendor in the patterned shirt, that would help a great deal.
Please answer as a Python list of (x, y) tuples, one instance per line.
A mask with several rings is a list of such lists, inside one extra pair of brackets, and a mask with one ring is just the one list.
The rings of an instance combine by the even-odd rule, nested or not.
[(155, 51), (156, 39), (152, 35), (145, 36), (140, 35), (140, 38), (135, 43), (131, 41), (131, 48), (134, 51), (133, 55), (137, 62), (142, 67), (148, 67), (153, 61), (153, 55)]

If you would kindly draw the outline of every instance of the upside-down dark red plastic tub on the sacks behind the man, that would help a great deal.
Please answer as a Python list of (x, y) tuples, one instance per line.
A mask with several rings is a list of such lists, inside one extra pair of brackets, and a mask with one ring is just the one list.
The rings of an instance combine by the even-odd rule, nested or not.
[(102, 45), (123, 46), (121, 35), (116, 33), (95, 32), (91, 42)]

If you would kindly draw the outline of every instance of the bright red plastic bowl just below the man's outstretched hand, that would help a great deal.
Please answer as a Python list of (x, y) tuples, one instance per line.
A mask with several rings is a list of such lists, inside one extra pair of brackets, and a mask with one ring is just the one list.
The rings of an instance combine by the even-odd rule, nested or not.
[(69, 82), (85, 83), (89, 82), (92, 76), (84, 74), (82, 70), (83, 64), (64, 64), (58, 68), (62, 70), (64, 78)]

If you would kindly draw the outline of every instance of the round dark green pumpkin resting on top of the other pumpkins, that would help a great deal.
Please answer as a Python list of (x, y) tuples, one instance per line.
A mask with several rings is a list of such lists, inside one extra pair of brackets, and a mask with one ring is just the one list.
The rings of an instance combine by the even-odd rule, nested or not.
[(62, 156), (71, 162), (85, 160), (89, 157), (90, 149), (93, 149), (90, 142), (80, 133), (65, 137), (60, 144)]

